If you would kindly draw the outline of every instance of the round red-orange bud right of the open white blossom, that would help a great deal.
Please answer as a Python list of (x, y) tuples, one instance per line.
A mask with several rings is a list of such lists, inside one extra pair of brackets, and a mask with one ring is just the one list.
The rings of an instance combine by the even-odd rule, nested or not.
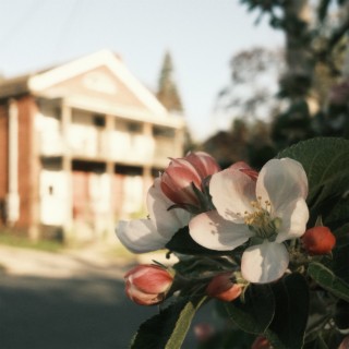
[(318, 226), (308, 229), (302, 242), (310, 255), (318, 255), (329, 253), (336, 244), (336, 238), (327, 227)]

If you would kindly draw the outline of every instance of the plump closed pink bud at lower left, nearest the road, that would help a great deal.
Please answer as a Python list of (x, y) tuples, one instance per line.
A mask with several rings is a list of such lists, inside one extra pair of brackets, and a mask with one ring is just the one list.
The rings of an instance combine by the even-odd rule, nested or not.
[(129, 270), (124, 279), (125, 292), (133, 302), (153, 305), (164, 301), (173, 276), (158, 265), (143, 264)]

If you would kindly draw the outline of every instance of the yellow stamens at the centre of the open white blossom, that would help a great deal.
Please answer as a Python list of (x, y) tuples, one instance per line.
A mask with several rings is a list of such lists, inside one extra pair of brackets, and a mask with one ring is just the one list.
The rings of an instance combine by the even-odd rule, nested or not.
[(251, 202), (253, 212), (245, 212), (244, 224), (256, 234), (256, 238), (274, 241), (280, 227), (281, 219), (272, 218), (272, 204), (269, 201), (262, 203), (262, 197)]

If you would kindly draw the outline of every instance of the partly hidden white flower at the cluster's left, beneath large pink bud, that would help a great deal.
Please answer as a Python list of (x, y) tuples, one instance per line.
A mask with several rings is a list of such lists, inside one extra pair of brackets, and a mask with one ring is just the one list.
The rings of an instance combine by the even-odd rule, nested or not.
[(147, 193), (149, 218), (119, 222), (117, 236), (122, 244), (134, 253), (164, 249), (173, 234), (188, 225), (191, 214), (182, 208), (168, 209), (173, 203), (160, 189), (160, 179)]

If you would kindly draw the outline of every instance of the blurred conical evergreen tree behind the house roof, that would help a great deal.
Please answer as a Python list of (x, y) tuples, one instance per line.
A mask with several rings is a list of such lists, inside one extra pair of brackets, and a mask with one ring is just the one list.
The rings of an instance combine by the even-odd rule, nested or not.
[(183, 111), (181, 98), (174, 83), (172, 58), (169, 51), (164, 57), (156, 96), (169, 111)]

